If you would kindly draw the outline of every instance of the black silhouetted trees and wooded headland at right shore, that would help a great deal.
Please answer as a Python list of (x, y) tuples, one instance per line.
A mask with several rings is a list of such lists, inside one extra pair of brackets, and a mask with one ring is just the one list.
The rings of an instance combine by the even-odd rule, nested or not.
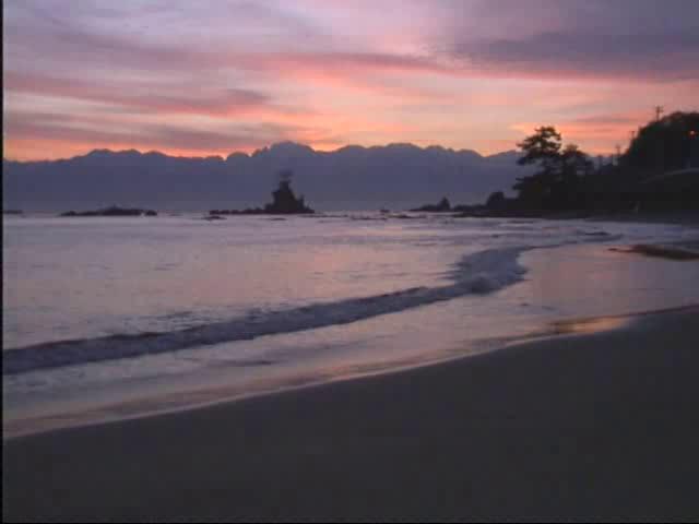
[(485, 205), (457, 206), (463, 216), (541, 216), (628, 211), (699, 211), (699, 112), (677, 111), (639, 128), (623, 154), (596, 167), (576, 144), (564, 145), (553, 126), (517, 144), (514, 199), (490, 194)]

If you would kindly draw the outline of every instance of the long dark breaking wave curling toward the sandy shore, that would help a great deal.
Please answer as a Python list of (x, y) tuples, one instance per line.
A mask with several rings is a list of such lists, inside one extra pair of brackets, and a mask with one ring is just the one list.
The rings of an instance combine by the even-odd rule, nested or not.
[(196, 346), (252, 340), (403, 311), (469, 294), (487, 294), (513, 284), (525, 273), (518, 255), (532, 247), (509, 247), (464, 257), (449, 275), (452, 283), (238, 317), (164, 333), (119, 334), (42, 343), (4, 352), (2, 374), (19, 374), (99, 360), (154, 355)]

